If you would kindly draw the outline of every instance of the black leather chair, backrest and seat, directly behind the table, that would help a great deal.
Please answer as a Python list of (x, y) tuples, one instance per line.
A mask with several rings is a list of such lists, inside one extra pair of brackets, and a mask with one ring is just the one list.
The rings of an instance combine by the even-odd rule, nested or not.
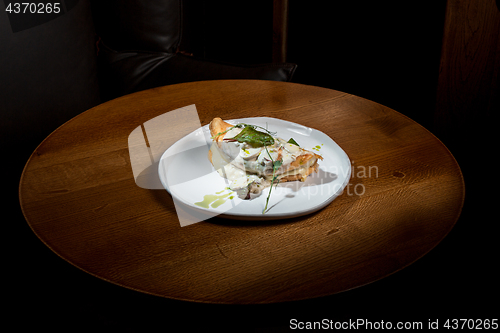
[[(104, 100), (157, 86), (214, 79), (290, 81), (296, 65), (236, 65), (184, 54), (192, 30), (182, 0), (95, 0), (99, 82)], [(235, 15), (237, 13), (234, 13)], [(271, 39), (272, 36), (269, 36)], [(271, 50), (270, 50), (271, 51)]]

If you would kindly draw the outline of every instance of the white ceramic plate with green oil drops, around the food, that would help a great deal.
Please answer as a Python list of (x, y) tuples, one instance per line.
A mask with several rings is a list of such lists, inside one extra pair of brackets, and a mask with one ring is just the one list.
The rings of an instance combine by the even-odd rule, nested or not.
[[(246, 123), (293, 138), (302, 148), (323, 156), (317, 173), (305, 182), (273, 187), (268, 210), (262, 213), (269, 189), (253, 200), (242, 200), (228, 190), (228, 182), (214, 169), (207, 154), (211, 139), (208, 125), (177, 141), (160, 158), (159, 177), (176, 203), (195, 211), (236, 219), (283, 219), (309, 214), (331, 203), (342, 193), (351, 176), (347, 154), (328, 135), (276, 118), (242, 118), (228, 123)], [(214, 204), (215, 203), (215, 204)]]

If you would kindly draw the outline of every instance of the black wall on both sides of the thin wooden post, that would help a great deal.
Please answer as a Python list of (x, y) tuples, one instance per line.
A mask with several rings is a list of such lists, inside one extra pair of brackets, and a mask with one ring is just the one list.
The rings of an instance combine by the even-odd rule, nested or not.
[[(209, 59), (272, 61), (271, 1), (202, 1), (184, 46)], [(289, 1), (287, 61), (294, 82), (352, 93), (430, 127), (445, 0)]]

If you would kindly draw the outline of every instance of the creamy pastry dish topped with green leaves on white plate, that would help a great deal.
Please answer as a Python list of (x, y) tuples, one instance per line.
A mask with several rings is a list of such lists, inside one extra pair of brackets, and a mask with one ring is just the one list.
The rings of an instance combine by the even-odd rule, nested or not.
[(301, 148), (293, 138), (286, 141), (259, 126), (232, 125), (214, 118), (209, 129), (213, 144), (208, 158), (242, 199), (256, 198), (267, 187), (270, 195), (273, 184), (305, 181), (323, 159)]

